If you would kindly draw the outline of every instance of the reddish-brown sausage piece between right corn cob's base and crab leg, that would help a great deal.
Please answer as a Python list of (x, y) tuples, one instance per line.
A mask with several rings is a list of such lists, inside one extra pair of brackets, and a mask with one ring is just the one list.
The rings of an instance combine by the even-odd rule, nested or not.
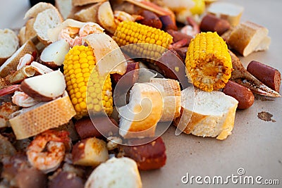
[(238, 109), (250, 108), (255, 101), (255, 96), (249, 88), (231, 80), (223, 88), (223, 93), (233, 96), (239, 102)]

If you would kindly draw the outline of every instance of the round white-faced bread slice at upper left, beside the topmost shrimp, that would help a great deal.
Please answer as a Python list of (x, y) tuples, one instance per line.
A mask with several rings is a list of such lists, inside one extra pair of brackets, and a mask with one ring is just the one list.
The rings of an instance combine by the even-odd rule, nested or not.
[(33, 28), (37, 32), (38, 39), (45, 45), (51, 44), (48, 30), (63, 22), (63, 18), (56, 8), (49, 8), (36, 16)]

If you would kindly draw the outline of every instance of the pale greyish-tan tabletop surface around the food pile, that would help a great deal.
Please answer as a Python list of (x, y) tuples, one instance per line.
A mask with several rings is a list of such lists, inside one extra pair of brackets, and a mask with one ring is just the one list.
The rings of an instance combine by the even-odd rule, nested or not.
[[(241, 21), (250, 20), (269, 29), (269, 50), (240, 56), (245, 67), (256, 60), (282, 71), (282, 22), (281, 0), (224, 0), (244, 6)], [(20, 28), (29, 4), (27, 0), (7, 1), (0, 6), (0, 29)], [(282, 89), (281, 89), (282, 90)], [(262, 181), (278, 179), (282, 184), (282, 99), (256, 99), (251, 108), (237, 111), (233, 134), (226, 140), (195, 137), (187, 134), (175, 135), (176, 128), (170, 127), (162, 135), (166, 144), (167, 161), (164, 168), (141, 172), (143, 187), (200, 187), (197, 182), (188, 182), (183, 176), (202, 178), (221, 176), (261, 176)], [(273, 115), (274, 121), (266, 122), (257, 117), (259, 112)], [(243, 168), (245, 174), (238, 175)], [(240, 169), (242, 170), (242, 169)], [(240, 171), (242, 172), (242, 171)], [(203, 179), (202, 179), (203, 182)], [(203, 183), (207, 185), (207, 183)], [(228, 187), (250, 187), (229, 179)], [(276, 185), (277, 186), (277, 185)], [(273, 185), (273, 187), (276, 187)], [(219, 187), (219, 184), (209, 184)], [(222, 187), (222, 186), (221, 186)], [(255, 183), (253, 187), (257, 187)], [(278, 187), (278, 186), (277, 186)]]

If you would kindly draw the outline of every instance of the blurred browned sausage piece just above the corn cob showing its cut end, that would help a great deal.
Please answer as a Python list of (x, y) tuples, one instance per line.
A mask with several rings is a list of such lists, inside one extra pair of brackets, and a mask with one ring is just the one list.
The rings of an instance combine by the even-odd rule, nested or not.
[(200, 30), (202, 32), (217, 32), (222, 35), (224, 32), (230, 29), (230, 24), (227, 20), (217, 18), (215, 15), (207, 14), (202, 18), (200, 23)]

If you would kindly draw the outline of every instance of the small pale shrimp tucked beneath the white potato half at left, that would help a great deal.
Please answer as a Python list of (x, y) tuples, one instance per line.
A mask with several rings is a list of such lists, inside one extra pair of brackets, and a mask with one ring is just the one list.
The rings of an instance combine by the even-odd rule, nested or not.
[(33, 99), (32, 97), (28, 96), (24, 92), (16, 91), (12, 96), (13, 104), (16, 104), (21, 107), (30, 107), (38, 104), (39, 101)]

